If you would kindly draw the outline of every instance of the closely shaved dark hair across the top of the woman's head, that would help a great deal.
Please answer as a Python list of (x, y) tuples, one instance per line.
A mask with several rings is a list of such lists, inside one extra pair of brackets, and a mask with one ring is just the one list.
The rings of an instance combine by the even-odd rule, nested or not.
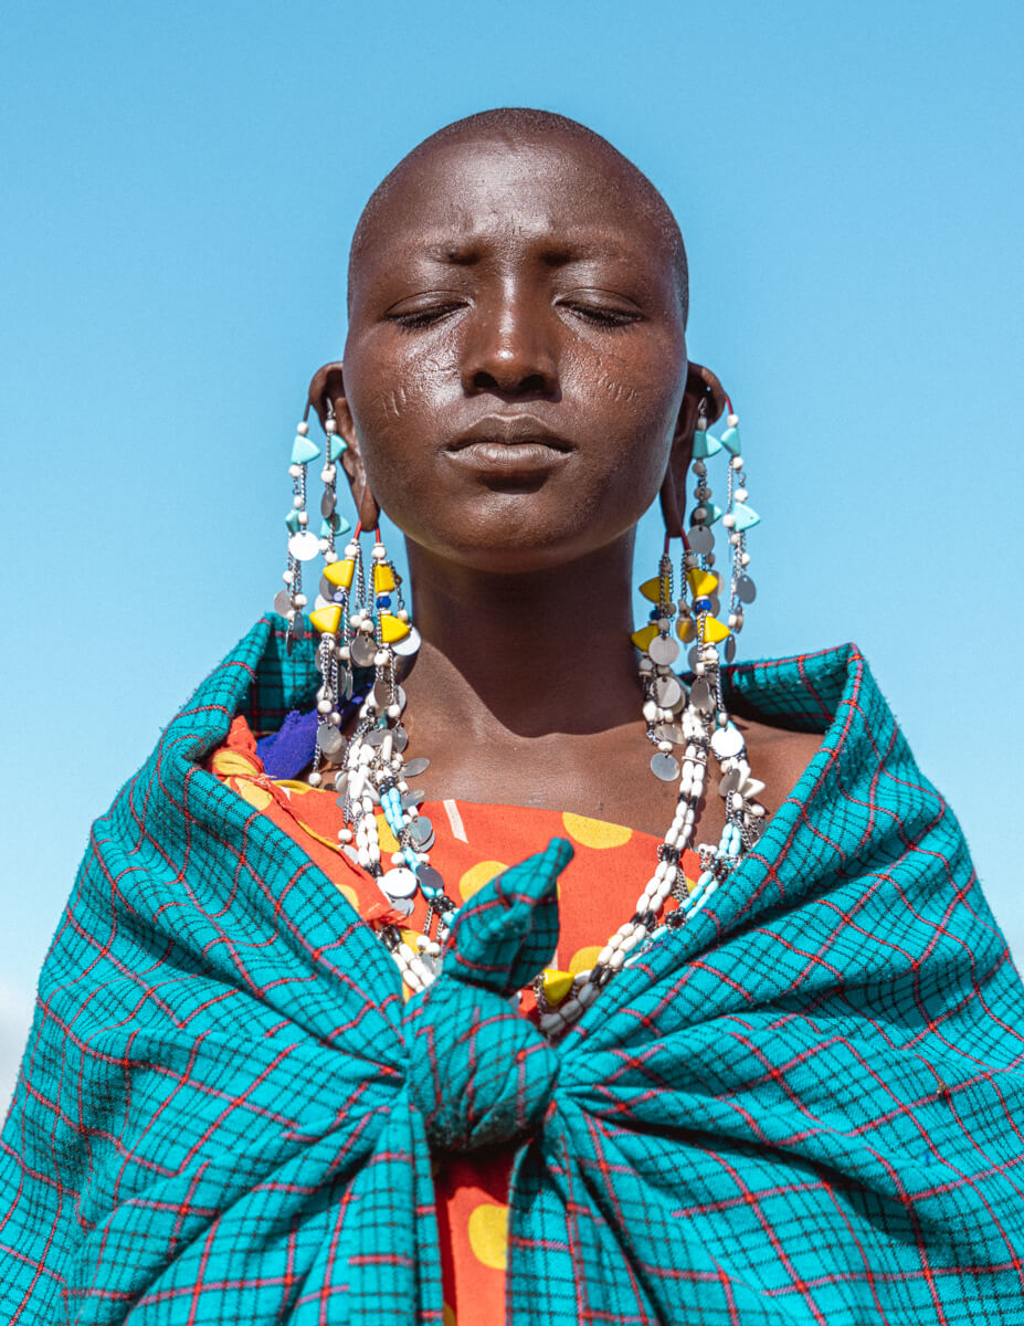
[(638, 217), (643, 217), (649, 224), (653, 223), (658, 229), (672, 263), (683, 322), (686, 322), (688, 273), (683, 236), (679, 231), (679, 223), (654, 184), (606, 138), (585, 125), (553, 111), (520, 107), (484, 110), (446, 125), (444, 129), (424, 138), (403, 156), (377, 186), (359, 216), (349, 251), (349, 308), (352, 308), (354, 274), (358, 264), (378, 229), (378, 223), (387, 215), (389, 203), (394, 200), (402, 183), (410, 174), (427, 166), (432, 156), (443, 155), (447, 149), (467, 143), (500, 143), (512, 151), (544, 146), (548, 150), (585, 158), (590, 171), (601, 176), (600, 186), (604, 190), (611, 190), (617, 195), (627, 195), (627, 198), (622, 198), (622, 202), (629, 202)]

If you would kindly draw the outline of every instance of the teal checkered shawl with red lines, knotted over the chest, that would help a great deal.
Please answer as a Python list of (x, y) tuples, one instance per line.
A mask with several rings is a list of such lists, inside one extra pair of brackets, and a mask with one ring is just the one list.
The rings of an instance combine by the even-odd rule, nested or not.
[(236, 712), (314, 696), (283, 625), (93, 829), (3, 1132), (0, 1321), (440, 1326), (431, 1138), (517, 1136), (513, 1326), (1024, 1322), (1024, 992), (852, 646), (731, 670), (737, 712), (822, 747), (550, 1049), (504, 993), (557, 934), (566, 845), (474, 898), (406, 1005), (338, 890), (200, 768)]

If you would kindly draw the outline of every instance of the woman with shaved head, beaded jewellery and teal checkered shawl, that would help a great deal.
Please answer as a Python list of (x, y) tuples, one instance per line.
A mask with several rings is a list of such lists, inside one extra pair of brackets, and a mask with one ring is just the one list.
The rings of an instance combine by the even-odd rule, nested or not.
[(1020, 981), (857, 651), (726, 663), (756, 514), (663, 200), (472, 117), (349, 302), (285, 617), (98, 821), (44, 969), (7, 1317), (1024, 1321)]

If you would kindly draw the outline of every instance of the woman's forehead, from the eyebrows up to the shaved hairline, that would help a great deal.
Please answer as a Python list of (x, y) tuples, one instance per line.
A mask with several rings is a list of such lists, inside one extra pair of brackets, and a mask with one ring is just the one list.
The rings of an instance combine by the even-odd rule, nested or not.
[(458, 261), (467, 245), (511, 241), (645, 265), (663, 259), (671, 269), (672, 245), (645, 186), (625, 158), (573, 135), (430, 143), (371, 203), (353, 269), (402, 255)]

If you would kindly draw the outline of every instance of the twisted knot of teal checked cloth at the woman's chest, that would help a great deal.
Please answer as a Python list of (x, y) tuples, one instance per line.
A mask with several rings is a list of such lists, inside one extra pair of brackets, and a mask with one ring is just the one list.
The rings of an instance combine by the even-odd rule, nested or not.
[(406, 1005), (407, 1085), (435, 1150), (472, 1151), (540, 1128), (558, 1055), (509, 996), (558, 941), (558, 874), (572, 846), (556, 838), (492, 879), (458, 912), (444, 969)]

